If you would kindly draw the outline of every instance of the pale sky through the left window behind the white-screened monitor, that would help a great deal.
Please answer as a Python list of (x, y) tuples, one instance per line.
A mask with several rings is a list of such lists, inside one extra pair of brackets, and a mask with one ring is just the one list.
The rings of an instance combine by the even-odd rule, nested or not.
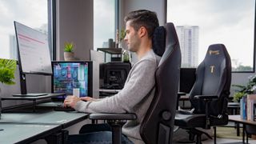
[(14, 21), (32, 28), (47, 23), (46, 0), (0, 0), (0, 58), (10, 58), (9, 36), (14, 35)]

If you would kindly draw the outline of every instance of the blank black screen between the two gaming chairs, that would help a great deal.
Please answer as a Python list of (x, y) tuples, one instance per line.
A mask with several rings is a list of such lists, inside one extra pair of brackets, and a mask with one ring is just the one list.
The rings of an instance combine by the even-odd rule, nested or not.
[(186, 94), (190, 93), (196, 79), (195, 71), (195, 68), (181, 68), (179, 83), (180, 92), (184, 92)]

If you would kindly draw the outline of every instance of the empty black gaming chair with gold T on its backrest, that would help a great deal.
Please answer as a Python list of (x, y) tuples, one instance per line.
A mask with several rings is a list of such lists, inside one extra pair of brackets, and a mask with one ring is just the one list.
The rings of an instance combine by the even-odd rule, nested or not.
[[(206, 134), (196, 128), (210, 129), (228, 122), (227, 102), (230, 95), (231, 62), (226, 47), (222, 44), (209, 46), (206, 57), (196, 70), (196, 81), (190, 91), (193, 112), (179, 110), (175, 116), (175, 126), (189, 130), (190, 140), (197, 136), (196, 143), (201, 143), (201, 135)], [(206, 134), (209, 138), (210, 135)]]

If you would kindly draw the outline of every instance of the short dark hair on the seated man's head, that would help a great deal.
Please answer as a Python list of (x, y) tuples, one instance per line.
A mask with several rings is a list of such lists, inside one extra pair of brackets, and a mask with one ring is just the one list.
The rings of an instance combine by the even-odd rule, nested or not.
[(142, 26), (146, 27), (149, 38), (152, 38), (154, 29), (159, 26), (157, 14), (150, 10), (131, 11), (124, 20), (131, 21), (130, 26), (133, 26), (136, 31)]

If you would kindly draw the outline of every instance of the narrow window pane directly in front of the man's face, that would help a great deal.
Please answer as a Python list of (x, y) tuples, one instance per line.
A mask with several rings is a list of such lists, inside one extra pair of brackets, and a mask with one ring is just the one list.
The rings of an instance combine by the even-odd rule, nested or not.
[(94, 0), (94, 50), (115, 41), (115, 0)]

